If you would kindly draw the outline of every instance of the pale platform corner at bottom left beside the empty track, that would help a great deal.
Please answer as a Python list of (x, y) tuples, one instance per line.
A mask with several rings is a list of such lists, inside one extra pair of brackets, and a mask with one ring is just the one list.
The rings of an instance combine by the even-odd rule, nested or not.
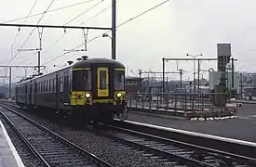
[(16, 148), (13, 146), (4, 124), (0, 121), (0, 166), (24, 167)]

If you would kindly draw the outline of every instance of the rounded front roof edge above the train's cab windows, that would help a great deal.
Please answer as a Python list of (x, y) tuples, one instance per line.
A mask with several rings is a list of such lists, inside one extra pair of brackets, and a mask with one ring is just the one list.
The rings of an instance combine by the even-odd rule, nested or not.
[(84, 58), (74, 63), (73, 68), (86, 68), (91, 64), (113, 64), (115, 68), (125, 69), (125, 65), (121, 62), (110, 58)]

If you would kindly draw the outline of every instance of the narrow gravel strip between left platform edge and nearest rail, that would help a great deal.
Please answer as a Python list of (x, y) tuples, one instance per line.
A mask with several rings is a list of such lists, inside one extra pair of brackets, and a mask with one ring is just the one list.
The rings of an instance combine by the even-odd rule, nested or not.
[(0, 120), (5, 125), (7, 129), (7, 134), (9, 135), (12, 144), (16, 148), (17, 152), (20, 155), (20, 159), (26, 167), (41, 167), (40, 161), (32, 154), (29, 148), (23, 143), (19, 135), (10, 127), (2, 115), (0, 115)]

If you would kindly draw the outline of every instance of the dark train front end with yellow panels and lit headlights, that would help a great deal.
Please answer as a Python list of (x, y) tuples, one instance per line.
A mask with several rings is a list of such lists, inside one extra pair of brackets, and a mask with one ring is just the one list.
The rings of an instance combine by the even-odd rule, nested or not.
[(72, 68), (71, 106), (90, 120), (113, 120), (126, 109), (125, 66), (107, 58), (83, 58)]

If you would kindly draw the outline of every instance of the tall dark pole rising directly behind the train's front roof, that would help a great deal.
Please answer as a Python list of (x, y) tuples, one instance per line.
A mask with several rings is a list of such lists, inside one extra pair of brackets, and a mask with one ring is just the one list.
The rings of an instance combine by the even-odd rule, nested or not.
[(115, 59), (115, 40), (116, 40), (116, 35), (115, 35), (115, 29), (116, 29), (116, 0), (112, 0), (112, 59)]

